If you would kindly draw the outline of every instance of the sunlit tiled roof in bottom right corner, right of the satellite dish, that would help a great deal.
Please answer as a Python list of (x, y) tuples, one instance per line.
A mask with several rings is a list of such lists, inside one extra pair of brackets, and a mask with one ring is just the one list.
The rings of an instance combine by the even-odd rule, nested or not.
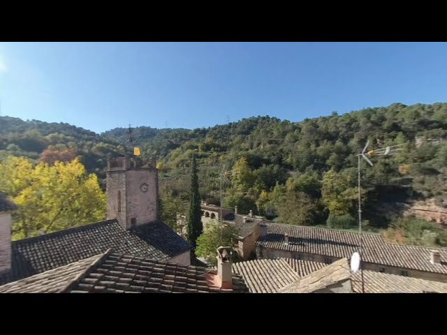
[[(360, 271), (352, 276), (354, 292), (362, 292), (362, 278)], [(447, 283), (427, 281), (420, 278), (397, 276), (376, 271), (363, 271), (365, 293), (447, 293)]]

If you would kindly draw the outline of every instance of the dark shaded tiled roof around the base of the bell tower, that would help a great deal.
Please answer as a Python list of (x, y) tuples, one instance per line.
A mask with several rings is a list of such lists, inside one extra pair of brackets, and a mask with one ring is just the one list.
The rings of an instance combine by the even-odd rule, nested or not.
[(163, 223), (124, 230), (116, 220), (60, 230), (11, 243), (11, 271), (0, 283), (16, 281), (113, 248), (117, 253), (168, 260), (192, 246)]

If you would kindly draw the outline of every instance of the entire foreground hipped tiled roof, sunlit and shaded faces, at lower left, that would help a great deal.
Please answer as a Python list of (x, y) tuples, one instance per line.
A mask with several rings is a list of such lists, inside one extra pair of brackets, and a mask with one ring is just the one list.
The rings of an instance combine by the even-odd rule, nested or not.
[[(109, 250), (87, 260), (0, 286), (0, 292), (248, 292), (240, 275), (233, 275), (232, 289), (221, 289), (210, 281), (210, 275), (215, 274), (216, 271), (205, 267), (161, 262)], [(57, 289), (52, 288), (55, 281), (60, 283)]]

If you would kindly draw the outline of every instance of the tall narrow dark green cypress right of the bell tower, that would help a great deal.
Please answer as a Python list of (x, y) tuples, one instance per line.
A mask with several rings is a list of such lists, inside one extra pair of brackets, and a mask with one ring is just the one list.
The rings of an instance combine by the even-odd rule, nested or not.
[(186, 227), (187, 239), (193, 246), (196, 246), (196, 240), (203, 231), (197, 172), (196, 156), (193, 155), (193, 163), (191, 167), (191, 190), (189, 193), (190, 206), (188, 214), (188, 225)]

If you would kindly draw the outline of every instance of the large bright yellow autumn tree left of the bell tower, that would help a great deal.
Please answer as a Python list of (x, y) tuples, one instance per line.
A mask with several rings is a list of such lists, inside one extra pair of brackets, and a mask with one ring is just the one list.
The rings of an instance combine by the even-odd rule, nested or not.
[(76, 158), (34, 168), (26, 158), (0, 163), (0, 190), (13, 198), (13, 239), (73, 228), (105, 218), (105, 195), (96, 174)]

